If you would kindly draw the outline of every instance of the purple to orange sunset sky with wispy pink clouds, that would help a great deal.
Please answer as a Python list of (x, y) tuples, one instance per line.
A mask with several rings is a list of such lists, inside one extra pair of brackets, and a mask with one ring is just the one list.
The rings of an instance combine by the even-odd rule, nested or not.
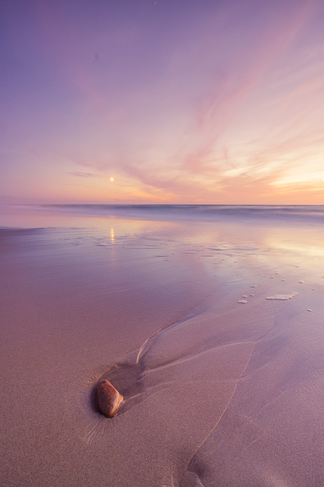
[(2, 0), (0, 203), (324, 204), (322, 0)]

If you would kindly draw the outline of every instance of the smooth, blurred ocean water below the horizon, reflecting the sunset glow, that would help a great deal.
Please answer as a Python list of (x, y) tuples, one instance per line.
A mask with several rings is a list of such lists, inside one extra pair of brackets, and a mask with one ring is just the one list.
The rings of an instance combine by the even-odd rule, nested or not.
[(255, 253), (275, 258), (274, 266), (302, 261), (318, 275), (324, 255), (323, 205), (6, 205), (0, 227), (68, 233), (75, 244), (87, 235), (116, 248), (149, 251), (168, 241), (202, 255)]

